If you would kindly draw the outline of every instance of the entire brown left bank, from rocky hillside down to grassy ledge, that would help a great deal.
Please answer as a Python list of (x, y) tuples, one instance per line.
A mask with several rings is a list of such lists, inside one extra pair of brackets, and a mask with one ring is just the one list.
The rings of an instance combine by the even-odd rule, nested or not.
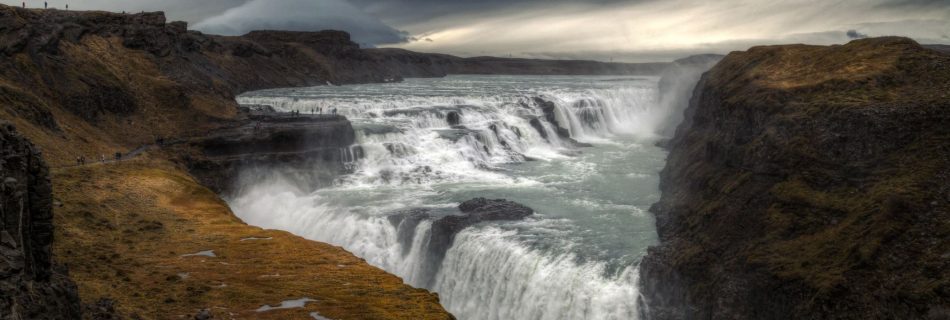
[(244, 224), (163, 147), (207, 138), (203, 159), (228, 169), (247, 162), (235, 146), (350, 128), (274, 121), (251, 143), (235, 94), (398, 78), (339, 31), (220, 37), (161, 13), (0, 5), (0, 119), (22, 134), (0, 132), (0, 319), (451, 319), (342, 248)]

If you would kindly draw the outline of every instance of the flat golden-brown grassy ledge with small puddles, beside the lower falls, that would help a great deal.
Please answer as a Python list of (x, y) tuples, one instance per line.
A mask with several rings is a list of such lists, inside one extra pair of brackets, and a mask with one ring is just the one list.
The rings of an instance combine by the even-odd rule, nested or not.
[[(83, 302), (177, 318), (446, 319), (438, 299), (339, 247), (245, 225), (191, 177), (161, 160), (54, 170), (55, 255)], [(248, 240), (248, 237), (272, 238)], [(182, 257), (214, 250), (217, 257)], [(187, 274), (182, 278), (179, 274)], [(308, 297), (306, 308), (257, 313)]]

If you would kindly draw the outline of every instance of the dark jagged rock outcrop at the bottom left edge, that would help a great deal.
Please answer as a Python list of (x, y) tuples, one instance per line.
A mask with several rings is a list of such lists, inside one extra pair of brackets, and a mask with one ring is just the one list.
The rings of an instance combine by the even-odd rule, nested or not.
[(53, 264), (49, 169), (4, 121), (0, 179), (0, 319), (79, 319), (76, 284)]

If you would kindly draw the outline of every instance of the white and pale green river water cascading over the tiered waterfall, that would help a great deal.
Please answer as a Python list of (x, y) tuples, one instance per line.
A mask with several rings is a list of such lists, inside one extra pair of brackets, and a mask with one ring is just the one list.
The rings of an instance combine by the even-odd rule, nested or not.
[[(535, 97), (554, 103), (556, 123)], [(669, 112), (657, 97), (649, 77), (452, 76), (252, 92), (239, 102), (336, 109), (364, 156), (332, 187), (302, 190), (274, 174), (229, 202), (249, 224), (343, 246), (438, 292), (459, 319), (636, 319), (637, 263), (656, 242), (646, 210), (665, 158), (653, 146)], [(558, 137), (558, 125), (592, 146)], [(535, 215), (467, 228), (433, 261), (433, 219), (474, 197)], [(396, 214), (412, 208), (435, 217)]]

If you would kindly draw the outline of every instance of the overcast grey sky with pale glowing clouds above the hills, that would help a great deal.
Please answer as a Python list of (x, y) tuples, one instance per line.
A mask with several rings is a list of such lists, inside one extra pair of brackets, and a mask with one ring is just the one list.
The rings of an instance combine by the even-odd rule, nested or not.
[[(0, 0), (19, 5), (20, 1)], [(51, 0), (63, 7), (65, 0)], [(27, 1), (42, 6), (41, 1)], [(461, 56), (668, 61), (752, 45), (902, 35), (950, 44), (950, 0), (73, 0), (165, 11), (216, 34), (349, 31), (366, 46)]]

